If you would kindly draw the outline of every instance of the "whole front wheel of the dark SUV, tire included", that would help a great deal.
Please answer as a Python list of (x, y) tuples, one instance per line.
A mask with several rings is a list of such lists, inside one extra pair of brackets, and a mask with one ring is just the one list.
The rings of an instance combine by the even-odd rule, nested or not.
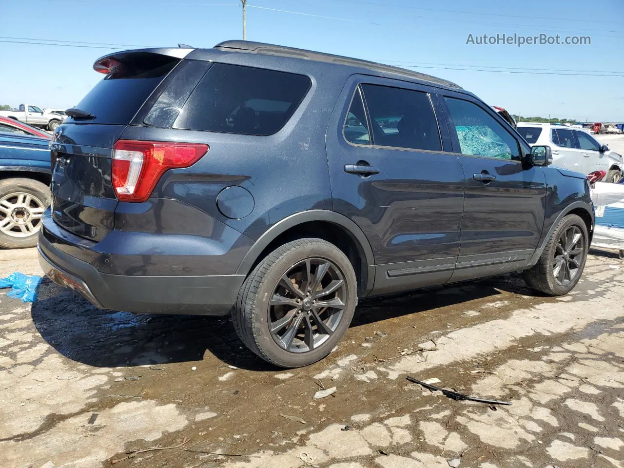
[[(576, 238), (576, 233), (580, 234), (579, 241), (582, 241), (582, 244), (577, 241), (568, 249), (568, 246), (562, 245), (562, 235), (570, 231), (574, 233), (573, 238)], [(535, 266), (524, 271), (524, 280), (527, 285), (549, 296), (562, 296), (572, 291), (583, 274), (583, 268), (585, 268), (587, 251), (589, 250), (588, 238), (587, 226), (580, 217), (577, 215), (563, 217), (548, 239), (540, 260)], [(563, 241), (565, 242), (565, 239)], [(573, 252), (578, 250), (580, 252), (573, 255)], [(567, 256), (563, 254), (567, 254)], [(557, 261), (555, 257), (561, 260)], [(567, 271), (563, 262), (568, 265)], [(560, 266), (559, 270), (557, 270), (557, 265)], [(570, 265), (575, 266), (575, 268), (570, 268)], [(555, 278), (555, 271), (558, 271), (557, 278)], [(570, 273), (571, 277), (566, 282), (567, 272)], [(560, 282), (562, 275), (563, 281)]]

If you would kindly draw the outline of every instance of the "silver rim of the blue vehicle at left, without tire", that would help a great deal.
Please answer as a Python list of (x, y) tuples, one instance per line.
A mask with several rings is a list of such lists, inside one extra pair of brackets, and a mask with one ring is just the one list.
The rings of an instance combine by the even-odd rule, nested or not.
[(41, 227), (46, 207), (30, 193), (9, 193), (0, 200), (0, 231), (12, 237), (28, 237)]

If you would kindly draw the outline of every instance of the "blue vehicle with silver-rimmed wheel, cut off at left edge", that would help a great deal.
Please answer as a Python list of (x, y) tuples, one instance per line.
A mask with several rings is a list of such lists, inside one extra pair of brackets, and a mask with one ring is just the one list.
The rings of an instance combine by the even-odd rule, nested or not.
[(37, 245), (50, 205), (50, 140), (0, 127), (0, 247)]

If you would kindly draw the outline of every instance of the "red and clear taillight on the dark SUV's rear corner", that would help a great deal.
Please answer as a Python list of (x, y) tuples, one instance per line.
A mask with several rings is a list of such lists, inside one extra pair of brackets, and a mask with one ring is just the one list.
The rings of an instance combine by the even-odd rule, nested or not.
[(188, 167), (210, 149), (194, 143), (117, 140), (113, 147), (112, 183), (122, 202), (145, 202), (160, 176)]

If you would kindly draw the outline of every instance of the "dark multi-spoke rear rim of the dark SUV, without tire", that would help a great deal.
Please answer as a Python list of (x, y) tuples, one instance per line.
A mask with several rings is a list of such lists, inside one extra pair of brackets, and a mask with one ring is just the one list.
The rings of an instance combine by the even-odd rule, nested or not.
[(339, 268), (324, 258), (296, 263), (280, 278), (268, 306), (275, 342), (291, 353), (323, 344), (338, 328), (347, 296)]

